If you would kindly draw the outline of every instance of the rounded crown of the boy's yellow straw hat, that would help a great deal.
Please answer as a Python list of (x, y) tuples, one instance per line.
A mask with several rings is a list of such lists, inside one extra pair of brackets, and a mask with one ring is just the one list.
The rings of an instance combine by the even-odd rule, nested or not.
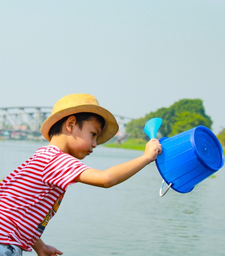
[(90, 94), (69, 94), (58, 100), (53, 106), (51, 115), (68, 108), (73, 108), (82, 105), (97, 105), (99, 103), (97, 99)]

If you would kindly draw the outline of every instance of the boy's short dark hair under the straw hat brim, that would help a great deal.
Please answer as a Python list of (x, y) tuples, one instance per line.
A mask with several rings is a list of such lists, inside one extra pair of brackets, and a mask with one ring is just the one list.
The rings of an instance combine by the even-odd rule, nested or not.
[(64, 122), (71, 116), (76, 117), (76, 124), (79, 126), (80, 129), (82, 129), (82, 126), (84, 124), (84, 121), (89, 121), (90, 119), (94, 118), (95, 120), (99, 121), (99, 123), (101, 124), (101, 128), (103, 129), (106, 121), (103, 117), (101, 117), (100, 115), (97, 115), (95, 113), (90, 113), (90, 112), (80, 112), (77, 114), (73, 114), (73, 115), (68, 115), (66, 117), (63, 117), (62, 119), (60, 119), (59, 121), (57, 121), (55, 124), (53, 124), (53, 126), (50, 128), (49, 130), (49, 138), (51, 140), (51, 138), (54, 135), (60, 135), (62, 133), (62, 125), (64, 124)]

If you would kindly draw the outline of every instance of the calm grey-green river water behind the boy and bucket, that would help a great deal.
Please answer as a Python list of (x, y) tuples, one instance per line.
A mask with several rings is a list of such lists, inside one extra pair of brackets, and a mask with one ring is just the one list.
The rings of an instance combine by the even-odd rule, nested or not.
[[(0, 178), (43, 145), (0, 141)], [(83, 162), (104, 170), (141, 153), (98, 146)], [(110, 189), (73, 184), (42, 239), (64, 256), (225, 255), (225, 167), (190, 193), (170, 189), (160, 197), (161, 182), (151, 163)]]

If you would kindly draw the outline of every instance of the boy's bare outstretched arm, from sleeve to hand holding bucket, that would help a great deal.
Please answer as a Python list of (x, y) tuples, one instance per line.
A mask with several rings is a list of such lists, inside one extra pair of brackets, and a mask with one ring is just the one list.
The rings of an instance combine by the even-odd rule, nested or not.
[(143, 167), (153, 162), (158, 154), (161, 154), (162, 146), (158, 139), (151, 139), (147, 144), (142, 156), (132, 159), (123, 164), (119, 164), (99, 171), (88, 168), (83, 171), (76, 179), (77, 182), (109, 188), (115, 186), (131, 176), (135, 175)]

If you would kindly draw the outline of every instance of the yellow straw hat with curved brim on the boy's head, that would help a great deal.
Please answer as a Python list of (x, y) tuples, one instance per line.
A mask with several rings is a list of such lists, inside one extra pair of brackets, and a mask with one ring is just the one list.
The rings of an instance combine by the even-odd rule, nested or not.
[(108, 110), (99, 106), (94, 96), (90, 94), (69, 94), (55, 103), (51, 116), (43, 122), (40, 128), (42, 135), (50, 141), (49, 130), (53, 124), (63, 117), (79, 112), (95, 113), (105, 119), (106, 126), (97, 139), (98, 145), (111, 139), (119, 129), (115, 117)]

